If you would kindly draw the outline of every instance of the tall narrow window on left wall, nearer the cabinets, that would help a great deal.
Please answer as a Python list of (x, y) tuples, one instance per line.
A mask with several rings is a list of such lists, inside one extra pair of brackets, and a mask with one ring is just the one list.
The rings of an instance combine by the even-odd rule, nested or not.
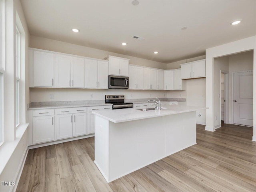
[(16, 26), (16, 127), (20, 124), (20, 32)]

